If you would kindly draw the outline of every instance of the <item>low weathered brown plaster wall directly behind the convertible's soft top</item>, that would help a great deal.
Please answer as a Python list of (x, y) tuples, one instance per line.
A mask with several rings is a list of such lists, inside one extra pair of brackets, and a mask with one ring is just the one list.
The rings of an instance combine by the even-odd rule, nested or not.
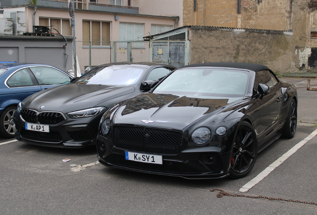
[(244, 62), (292, 72), (293, 36), (283, 31), (261, 31), (192, 26), (189, 31), (190, 64)]

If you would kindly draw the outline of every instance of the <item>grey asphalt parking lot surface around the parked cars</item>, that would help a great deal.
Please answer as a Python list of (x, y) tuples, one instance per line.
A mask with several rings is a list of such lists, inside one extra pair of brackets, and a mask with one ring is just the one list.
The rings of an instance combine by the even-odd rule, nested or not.
[[(111, 169), (97, 162), (95, 147), (48, 148), (0, 138), (0, 215), (317, 215), (317, 91), (306, 90), (307, 78), (280, 79), (298, 90), (296, 135), (259, 153), (245, 178), (185, 180)], [(213, 189), (230, 196), (217, 198)]]

